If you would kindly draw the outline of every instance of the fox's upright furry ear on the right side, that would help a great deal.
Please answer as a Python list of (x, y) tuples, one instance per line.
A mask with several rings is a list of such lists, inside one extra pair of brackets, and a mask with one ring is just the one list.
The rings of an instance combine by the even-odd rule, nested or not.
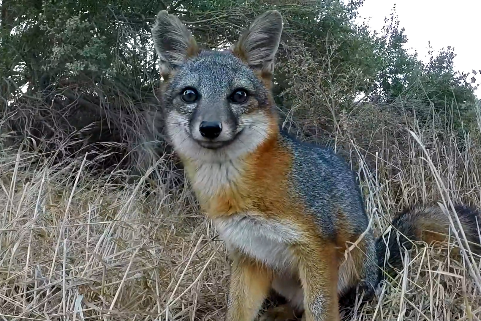
[(277, 10), (267, 11), (244, 31), (232, 51), (251, 68), (272, 75), (281, 33), (282, 16)]

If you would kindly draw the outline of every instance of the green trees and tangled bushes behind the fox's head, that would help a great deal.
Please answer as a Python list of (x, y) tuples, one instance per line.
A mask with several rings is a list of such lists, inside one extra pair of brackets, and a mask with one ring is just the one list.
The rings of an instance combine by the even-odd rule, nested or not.
[(45, 151), (62, 150), (62, 157), (89, 150), (103, 166), (162, 134), (159, 117), (151, 117), (162, 106), (155, 99), (161, 79), (150, 33), (161, 9), (177, 14), (208, 48), (228, 47), (254, 16), (279, 10), (285, 32), (276, 101), (286, 121), (307, 135), (366, 103), (416, 101), (413, 111), (427, 119), (455, 105), (460, 115), (469, 113), (474, 102), (467, 75), (453, 69), (451, 48), (420, 63), (406, 51), (394, 14), (380, 34), (354, 24), (362, 0), (0, 3), (3, 129), (13, 130), (17, 142), (30, 137)]

